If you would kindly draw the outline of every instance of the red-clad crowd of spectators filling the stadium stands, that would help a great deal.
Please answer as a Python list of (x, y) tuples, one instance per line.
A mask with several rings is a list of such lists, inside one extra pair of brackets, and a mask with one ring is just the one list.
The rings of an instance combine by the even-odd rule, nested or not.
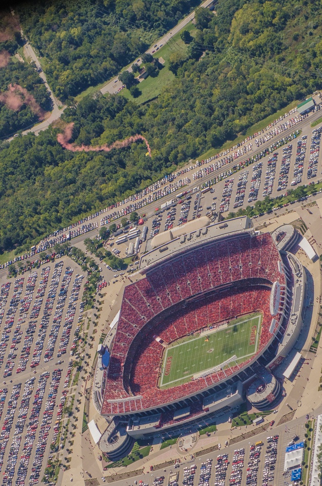
[[(279, 261), (279, 253), (269, 233), (257, 236), (246, 233), (232, 239), (222, 239), (207, 247), (197, 248), (191, 253), (165, 262), (149, 271), (146, 278), (127, 286), (111, 353), (102, 413), (118, 413), (122, 399), (124, 401), (121, 406), (124, 407), (124, 412), (131, 411), (130, 402), (127, 400), (129, 395), (123, 386), (126, 356), (135, 336), (156, 314), (188, 297), (211, 291), (230, 282), (260, 278), (270, 282), (279, 280), (283, 284), (285, 277), (278, 270)], [(242, 295), (242, 293), (235, 294), (232, 290), (228, 292), (230, 294), (220, 293), (222, 299), (220, 305), (211, 308), (209, 304), (209, 310), (207, 307), (205, 314), (197, 309), (198, 303), (191, 304), (195, 306), (193, 309), (190, 309), (190, 304), (185, 303), (178, 311), (181, 312), (180, 315), (174, 313), (178, 321), (171, 326), (168, 325), (164, 334), (161, 334), (161, 338), (165, 342), (171, 342), (205, 325), (214, 325), (219, 320), (259, 309), (264, 314), (259, 346), (259, 351), (261, 351), (271, 337), (268, 331), (271, 321), (269, 291), (268, 294), (263, 295), (260, 288), (254, 289), (249, 292), (247, 298), (245, 296), (239, 298), (238, 295)], [(169, 318), (167, 322), (169, 324), (172, 319)], [(215, 375), (209, 375), (179, 387), (158, 389), (156, 383), (159, 373), (159, 358), (161, 358), (163, 347), (151, 339), (151, 335), (154, 334), (155, 331), (151, 330), (150, 339), (148, 339), (149, 336), (145, 336), (145, 344), (149, 343), (149, 346), (143, 346), (143, 352), (140, 353), (142, 361), (138, 363), (140, 370), (137, 368), (138, 371), (134, 372), (133, 378), (131, 377), (130, 393), (143, 396), (139, 407), (159, 406), (225, 378), (225, 374), (219, 371)], [(237, 369), (232, 366), (227, 373), (232, 374)], [(139, 376), (141, 376), (140, 379)], [(127, 382), (126, 377), (125, 382)], [(119, 401), (113, 402), (113, 400)]]

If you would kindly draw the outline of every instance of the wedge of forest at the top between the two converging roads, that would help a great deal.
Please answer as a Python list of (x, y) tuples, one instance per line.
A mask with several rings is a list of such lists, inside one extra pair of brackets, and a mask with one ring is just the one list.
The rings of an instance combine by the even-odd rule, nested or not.
[(17, 12), (62, 101), (108, 81), (176, 25), (197, 0), (28, 1)]

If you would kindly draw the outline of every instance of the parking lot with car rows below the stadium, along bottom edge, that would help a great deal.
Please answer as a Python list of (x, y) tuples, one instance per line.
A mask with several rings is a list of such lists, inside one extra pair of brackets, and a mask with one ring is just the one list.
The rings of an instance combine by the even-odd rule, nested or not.
[(190, 452), (182, 463), (115, 484), (167, 486), (178, 473), (178, 480), (173, 481), (172, 486), (290, 485), (290, 474), (284, 474), (286, 447), (304, 440), (304, 424), (305, 416), (278, 426), (274, 423), (266, 432), (228, 447), (220, 444), (220, 435), (216, 433), (214, 441), (220, 444), (219, 450), (200, 457), (190, 457), (193, 454)]

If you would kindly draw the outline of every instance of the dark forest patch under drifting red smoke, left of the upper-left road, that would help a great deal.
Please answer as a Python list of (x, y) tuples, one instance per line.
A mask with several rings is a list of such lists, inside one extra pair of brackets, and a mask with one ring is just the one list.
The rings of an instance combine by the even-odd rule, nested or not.
[(0, 13), (0, 138), (13, 135), (45, 117), (52, 101), (34, 66), (18, 60), (22, 45), (18, 22)]

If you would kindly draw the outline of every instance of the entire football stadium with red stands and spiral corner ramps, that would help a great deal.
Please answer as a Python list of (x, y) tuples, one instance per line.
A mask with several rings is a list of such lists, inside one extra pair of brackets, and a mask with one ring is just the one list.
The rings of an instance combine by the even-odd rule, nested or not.
[(203, 217), (148, 242), (113, 341), (99, 349), (93, 401), (108, 457), (140, 437), (227, 420), (245, 399), (265, 410), (281, 398), (273, 371), (299, 336), (306, 293), (304, 268), (285, 250), (297, 232), (286, 229)]

